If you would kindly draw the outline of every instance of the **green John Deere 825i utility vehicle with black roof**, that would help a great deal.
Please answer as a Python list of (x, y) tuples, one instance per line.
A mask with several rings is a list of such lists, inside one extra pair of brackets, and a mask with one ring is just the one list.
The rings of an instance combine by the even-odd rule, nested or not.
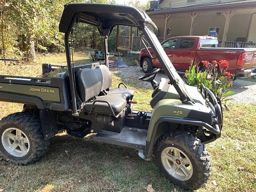
[[(105, 65), (73, 66), (69, 36), (77, 22), (96, 26), (104, 37)], [(132, 110), (134, 91), (125, 84), (112, 88), (108, 36), (116, 25), (138, 27), (142, 42), (154, 51), (149, 55), (167, 75), (156, 82), (155, 69), (140, 77), (152, 84), (152, 112)], [(203, 85), (198, 90), (184, 84), (147, 14), (126, 6), (68, 4), (59, 30), (65, 33), (67, 72), (52, 78), (0, 75), (0, 100), (24, 104), (21, 112), (0, 121), (0, 156), (14, 164), (34, 163), (64, 128), (75, 137), (97, 133), (95, 141), (134, 148), (144, 160), (154, 156), (160, 172), (182, 188), (203, 186), (212, 164), (204, 144), (219, 138), (222, 128), (220, 100)]]

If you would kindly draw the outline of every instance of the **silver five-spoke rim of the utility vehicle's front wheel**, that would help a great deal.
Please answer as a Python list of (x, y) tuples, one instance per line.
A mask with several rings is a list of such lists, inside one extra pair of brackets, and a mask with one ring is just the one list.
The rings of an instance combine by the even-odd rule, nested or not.
[(193, 174), (191, 161), (178, 148), (165, 148), (161, 153), (161, 161), (168, 174), (176, 180), (189, 180)]

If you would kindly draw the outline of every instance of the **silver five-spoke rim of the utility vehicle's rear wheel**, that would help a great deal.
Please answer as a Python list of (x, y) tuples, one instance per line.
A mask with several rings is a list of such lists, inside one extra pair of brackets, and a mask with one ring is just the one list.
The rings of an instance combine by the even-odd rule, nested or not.
[(4, 149), (16, 157), (27, 155), (30, 149), (28, 137), (18, 128), (6, 129), (1, 138)]

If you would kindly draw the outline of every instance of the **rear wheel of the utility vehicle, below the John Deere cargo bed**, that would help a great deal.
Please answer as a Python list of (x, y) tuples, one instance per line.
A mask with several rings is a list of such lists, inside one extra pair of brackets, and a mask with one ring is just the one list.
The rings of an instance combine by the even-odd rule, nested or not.
[(31, 164), (48, 150), (39, 118), (17, 112), (0, 120), (0, 156), (14, 164)]

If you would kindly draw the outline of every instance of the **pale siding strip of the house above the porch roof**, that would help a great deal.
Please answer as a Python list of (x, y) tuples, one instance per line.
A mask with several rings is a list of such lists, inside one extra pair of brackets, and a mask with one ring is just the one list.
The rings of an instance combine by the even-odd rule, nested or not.
[[(232, 2), (232, 1), (240, 1), (240, 0), (221, 0), (221, 3)], [(160, 8), (177, 8), (177, 7), (186, 7), (197, 4), (205, 4), (205, 3), (217, 3), (219, 0), (196, 0), (195, 3), (188, 3), (188, 0), (164, 0), (159, 7)]]

